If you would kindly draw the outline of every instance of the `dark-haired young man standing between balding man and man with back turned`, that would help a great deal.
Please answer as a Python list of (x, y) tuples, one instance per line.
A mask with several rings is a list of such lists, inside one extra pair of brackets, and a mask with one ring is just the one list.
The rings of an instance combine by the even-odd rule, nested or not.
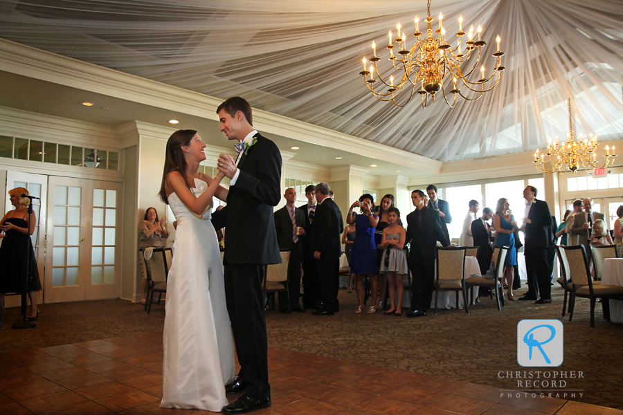
[(314, 260), (314, 250), (309, 247), (311, 235), (314, 229), (311, 223), (314, 222), (316, 214), (316, 187), (309, 185), (305, 187), (305, 197), (307, 205), (300, 206), (300, 210), (305, 215), (305, 238), (303, 238), (303, 307), (317, 308), (320, 302), (320, 282), (318, 282), (318, 271)]

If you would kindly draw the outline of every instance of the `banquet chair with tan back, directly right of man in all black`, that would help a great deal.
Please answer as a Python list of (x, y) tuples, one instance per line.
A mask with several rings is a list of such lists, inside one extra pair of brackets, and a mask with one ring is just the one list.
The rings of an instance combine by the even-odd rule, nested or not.
[(467, 292), (465, 287), (465, 253), (467, 246), (437, 246), (435, 247), (437, 257), (437, 276), (435, 277), (435, 315), (440, 291), (455, 291), (456, 309), (459, 309), (458, 292), (463, 293), (465, 304), (465, 314), (469, 314), (469, 304), (467, 303)]

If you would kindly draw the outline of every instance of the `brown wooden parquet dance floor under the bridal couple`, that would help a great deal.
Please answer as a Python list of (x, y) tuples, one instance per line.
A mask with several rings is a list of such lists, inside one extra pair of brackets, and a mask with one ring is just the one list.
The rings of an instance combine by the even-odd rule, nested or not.
[[(253, 414), (623, 414), (276, 348), (269, 370), (273, 406)], [(161, 332), (2, 353), (0, 392), (0, 414), (210, 414), (159, 407)]]

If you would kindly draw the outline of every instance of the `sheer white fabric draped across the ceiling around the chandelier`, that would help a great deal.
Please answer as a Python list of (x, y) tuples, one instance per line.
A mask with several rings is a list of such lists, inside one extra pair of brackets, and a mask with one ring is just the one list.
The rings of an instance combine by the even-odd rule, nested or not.
[(422, 0), (0, 0), (0, 37), (442, 161), (564, 140), (568, 98), (574, 129), (623, 138), (621, 1), (433, 0), (440, 12), (449, 34), (459, 15), (482, 25), (487, 73), (496, 35), (506, 52), (496, 89), (453, 109), (379, 102), (359, 75), (373, 40), (386, 57), (388, 30), (415, 31)]

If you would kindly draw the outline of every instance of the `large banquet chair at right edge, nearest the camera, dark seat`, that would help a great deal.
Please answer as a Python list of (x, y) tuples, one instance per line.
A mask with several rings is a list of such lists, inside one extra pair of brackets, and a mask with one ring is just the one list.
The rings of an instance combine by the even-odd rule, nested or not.
[(569, 304), (569, 322), (573, 320), (573, 309), (575, 308), (575, 298), (588, 298), (590, 300), (590, 328), (595, 328), (595, 303), (597, 298), (617, 298), (623, 297), (623, 287), (607, 284), (595, 284), (590, 277), (590, 266), (586, 249), (583, 245), (579, 246), (560, 246), (560, 250), (566, 254), (569, 270), (571, 271), (571, 282)]

